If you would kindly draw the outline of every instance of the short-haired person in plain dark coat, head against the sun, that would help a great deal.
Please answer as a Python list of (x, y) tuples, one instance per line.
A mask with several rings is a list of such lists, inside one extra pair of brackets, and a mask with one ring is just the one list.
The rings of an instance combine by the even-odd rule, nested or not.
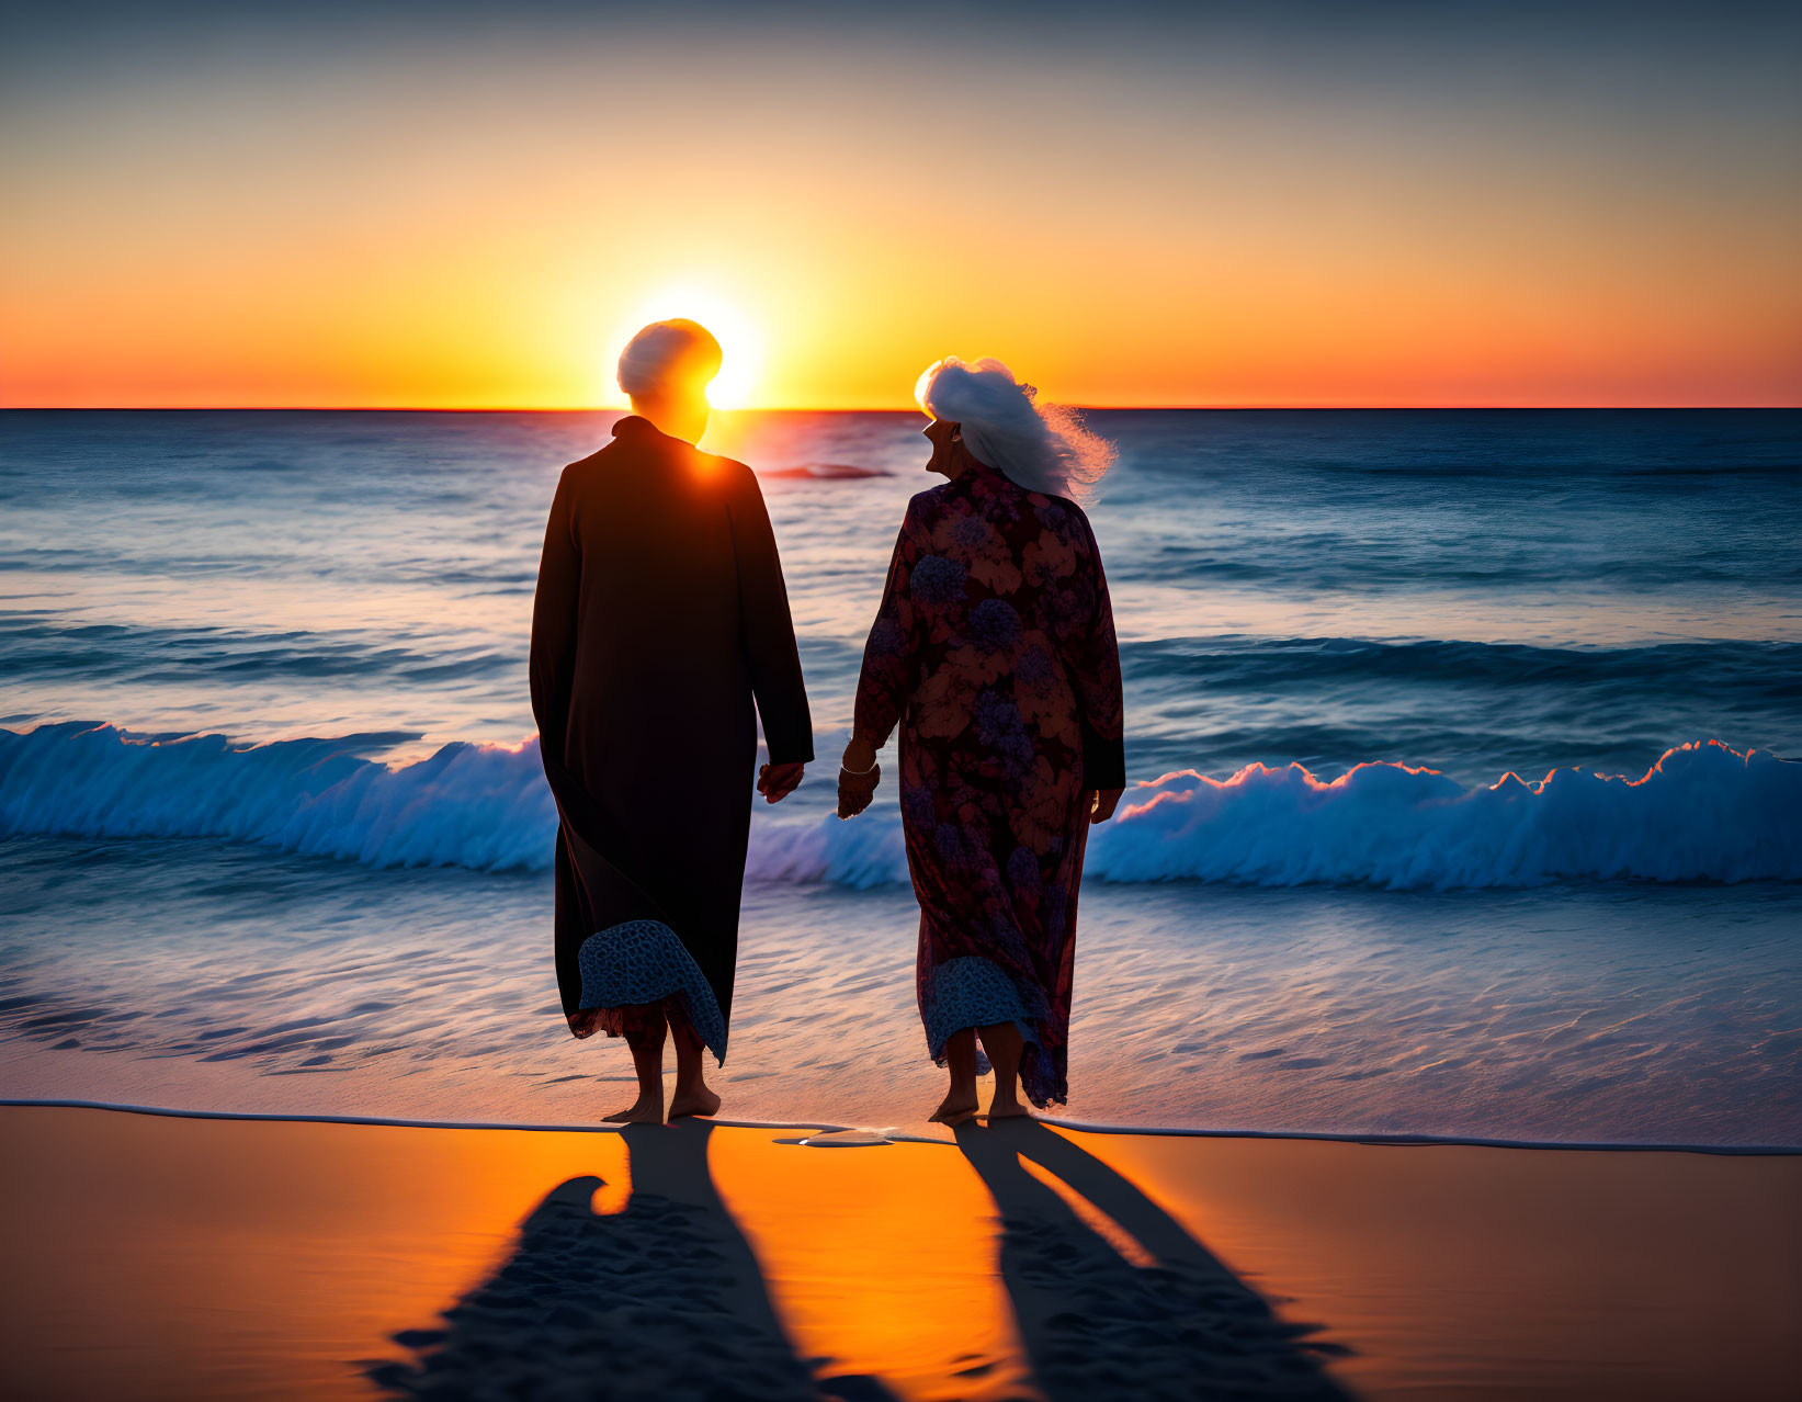
[[(757, 478), (694, 447), (719, 344), (647, 326), (620, 357), (634, 414), (557, 483), (532, 615), (532, 710), (557, 798), (557, 986), (575, 1036), (625, 1036), (638, 1101), (714, 1114), (726, 1060), (757, 717), (787, 797), (813, 759), (782, 566)], [(753, 712), (755, 699), (755, 712)]]

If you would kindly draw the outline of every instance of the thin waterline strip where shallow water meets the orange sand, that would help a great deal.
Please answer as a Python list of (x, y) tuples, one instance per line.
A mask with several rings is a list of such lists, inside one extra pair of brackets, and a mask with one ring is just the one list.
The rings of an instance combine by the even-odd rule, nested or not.
[[(184, 1110), (166, 1105), (128, 1105), (119, 1101), (86, 1099), (7, 1099), (0, 1110), (112, 1110), (130, 1115), (159, 1115), (168, 1119), (243, 1119), (283, 1124), (369, 1124), (391, 1130), (485, 1130), (519, 1133), (618, 1133), (623, 1124), (605, 1123), (524, 1123), (505, 1119), (405, 1119), (398, 1115), (330, 1115), (281, 1114), (268, 1110)], [(1094, 1135), (1130, 1135), (1151, 1139), (1251, 1139), (1278, 1143), (1368, 1144), (1371, 1148), (1481, 1148), (1534, 1150), (1546, 1153), (1705, 1153), (1728, 1159), (1784, 1159), (1802, 1157), (1802, 1144), (1640, 1144), (1622, 1141), (1573, 1139), (1483, 1139), (1474, 1135), (1433, 1133), (1357, 1133), (1333, 1130), (1216, 1130), (1184, 1124), (1106, 1124), (1099, 1121), (1065, 1119), (1063, 1115), (1033, 1114), (1038, 1124)], [(881, 1135), (892, 1144), (951, 1144), (950, 1137), (908, 1133), (899, 1126), (833, 1124), (816, 1119), (730, 1119), (714, 1117), (708, 1124), (721, 1130), (813, 1130), (815, 1133), (865, 1132)]]

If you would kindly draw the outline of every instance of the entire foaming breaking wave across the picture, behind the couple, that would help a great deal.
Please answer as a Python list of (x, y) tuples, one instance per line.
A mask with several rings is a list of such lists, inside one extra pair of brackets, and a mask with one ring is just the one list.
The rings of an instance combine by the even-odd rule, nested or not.
[[(238, 746), (150, 741), (112, 726), (0, 730), (0, 833), (195, 836), (373, 867), (542, 870), (555, 807), (537, 741), (447, 744), (387, 766), (333, 739)], [(1299, 764), (1216, 780), (1164, 775), (1096, 829), (1105, 881), (1389, 888), (1555, 879), (1802, 879), (1802, 764), (1716, 741), (1642, 778), (1557, 769), (1465, 787), (1431, 769), (1362, 764), (1321, 782)], [(906, 879), (890, 813), (759, 815), (748, 874), (876, 887)]]

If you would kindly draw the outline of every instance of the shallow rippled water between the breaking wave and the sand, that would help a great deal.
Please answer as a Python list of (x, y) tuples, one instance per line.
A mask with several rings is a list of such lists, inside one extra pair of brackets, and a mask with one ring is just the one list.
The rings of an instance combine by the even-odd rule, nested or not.
[[(7, 966), (27, 1002), (0, 1009), (7, 1097), (560, 1126), (616, 1108), (611, 1083), (631, 1076), (623, 1047), (571, 1040), (544, 997), (541, 883), (177, 840), (0, 847), (0, 885), (32, 932)], [(68, 870), (85, 874), (77, 903)], [(241, 919), (231, 892), (245, 881), (270, 890), (274, 919)], [(1085, 883), (1083, 899), (1060, 1121), (1802, 1146), (1788, 1034), (1802, 885), (1422, 897)], [(746, 883), (717, 1085), (733, 1119), (885, 1126), (939, 1103), (917, 924), (908, 888)], [(861, 937), (840, 937), (851, 928)], [(229, 953), (211, 932), (229, 932)], [(254, 998), (189, 997), (222, 953), (232, 977), (288, 975)], [(420, 959), (461, 1009), (429, 1034)]]

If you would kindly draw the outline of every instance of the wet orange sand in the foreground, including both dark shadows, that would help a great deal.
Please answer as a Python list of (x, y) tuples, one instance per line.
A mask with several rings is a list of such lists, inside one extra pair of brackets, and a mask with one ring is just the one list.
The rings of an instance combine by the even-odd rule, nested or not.
[(1802, 1157), (0, 1108), (31, 1398), (1802, 1386)]

